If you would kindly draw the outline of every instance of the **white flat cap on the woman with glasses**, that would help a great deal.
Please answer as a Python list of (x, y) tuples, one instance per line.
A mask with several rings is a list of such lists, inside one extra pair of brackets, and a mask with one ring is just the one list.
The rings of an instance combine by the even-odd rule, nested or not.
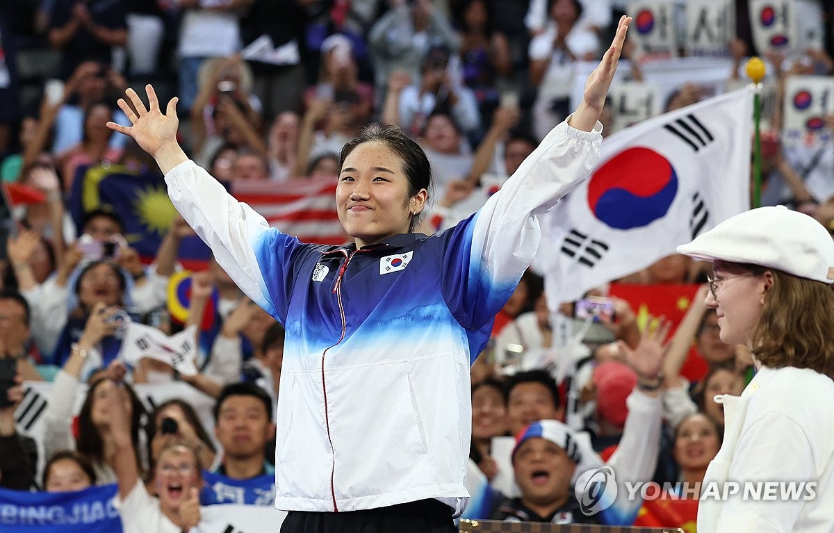
[(758, 264), (834, 282), (834, 240), (822, 224), (785, 206), (751, 209), (677, 247), (695, 259)]

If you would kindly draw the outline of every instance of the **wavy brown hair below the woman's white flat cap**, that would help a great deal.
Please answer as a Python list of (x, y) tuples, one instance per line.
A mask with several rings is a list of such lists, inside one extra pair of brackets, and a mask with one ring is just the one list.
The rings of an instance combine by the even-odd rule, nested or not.
[(816, 370), (834, 380), (834, 290), (831, 285), (771, 269), (752, 349), (762, 365)]

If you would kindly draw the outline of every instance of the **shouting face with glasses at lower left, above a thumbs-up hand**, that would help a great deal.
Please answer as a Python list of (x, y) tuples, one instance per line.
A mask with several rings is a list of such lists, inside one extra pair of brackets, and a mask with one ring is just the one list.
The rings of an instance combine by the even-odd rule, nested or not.
[(179, 510), (191, 489), (199, 489), (201, 484), (197, 458), (188, 447), (174, 445), (159, 455), (153, 469), (153, 486), (163, 510)]

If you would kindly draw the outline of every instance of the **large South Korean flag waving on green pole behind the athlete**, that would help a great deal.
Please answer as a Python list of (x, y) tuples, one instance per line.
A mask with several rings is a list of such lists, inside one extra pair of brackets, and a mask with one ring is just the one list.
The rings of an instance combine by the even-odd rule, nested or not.
[(752, 102), (743, 88), (605, 138), (590, 178), (541, 219), (551, 309), (750, 209)]

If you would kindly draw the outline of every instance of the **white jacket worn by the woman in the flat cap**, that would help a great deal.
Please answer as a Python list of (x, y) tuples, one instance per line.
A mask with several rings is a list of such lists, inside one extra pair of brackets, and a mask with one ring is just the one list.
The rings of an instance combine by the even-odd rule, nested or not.
[[(716, 401), (724, 405), (724, 443), (701, 485), (698, 533), (834, 531), (834, 380), (814, 370), (762, 367), (741, 396)], [(723, 492), (728, 481), (741, 485), (739, 494), (708, 495), (711, 483)], [(767, 481), (816, 482), (815, 494), (741, 497), (744, 482)]]

